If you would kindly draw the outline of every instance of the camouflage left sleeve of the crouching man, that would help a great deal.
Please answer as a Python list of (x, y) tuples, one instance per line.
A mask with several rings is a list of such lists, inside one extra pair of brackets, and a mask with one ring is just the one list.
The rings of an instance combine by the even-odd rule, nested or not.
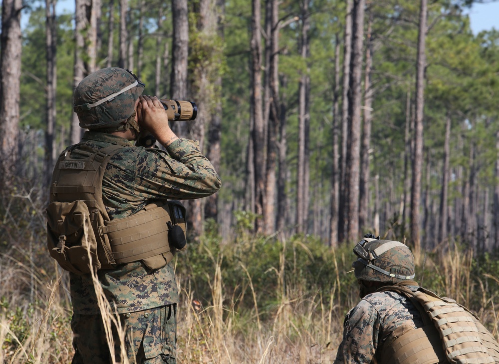
[(380, 328), (380, 317), (374, 307), (362, 300), (347, 314), (343, 326), (343, 340), (334, 364), (371, 363)]

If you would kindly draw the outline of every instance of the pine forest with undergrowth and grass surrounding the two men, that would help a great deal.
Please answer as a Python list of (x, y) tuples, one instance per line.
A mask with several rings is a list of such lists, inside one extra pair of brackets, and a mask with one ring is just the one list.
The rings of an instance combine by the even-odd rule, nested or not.
[(195, 101), (173, 128), (223, 181), (186, 201), (179, 360), (332, 361), (366, 232), (407, 243), (418, 281), (497, 338), (499, 32), (472, 32), (474, 2), (3, 0), (0, 362), (72, 355), (44, 208), (81, 137), (72, 90), (106, 66)]

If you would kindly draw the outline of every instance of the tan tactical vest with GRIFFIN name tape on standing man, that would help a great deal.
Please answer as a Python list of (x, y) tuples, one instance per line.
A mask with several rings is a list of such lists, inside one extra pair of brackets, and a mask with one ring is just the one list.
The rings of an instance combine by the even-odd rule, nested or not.
[(107, 163), (123, 146), (99, 151), (75, 146), (57, 160), (52, 175), (47, 212), (47, 246), (61, 268), (76, 274), (112, 269), (117, 264), (142, 261), (150, 269), (168, 264), (176, 251), (186, 249), (186, 210), (179, 201), (149, 204), (143, 210), (110, 220), (102, 200), (102, 178)]

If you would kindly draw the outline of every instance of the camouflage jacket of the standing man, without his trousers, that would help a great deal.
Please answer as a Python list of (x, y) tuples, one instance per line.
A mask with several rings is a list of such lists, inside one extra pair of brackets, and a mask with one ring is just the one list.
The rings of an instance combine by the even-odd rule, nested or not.
[[(78, 151), (88, 153), (111, 144), (124, 146), (107, 164), (102, 181), (104, 205), (111, 220), (130, 216), (152, 202), (210, 196), (221, 187), (218, 174), (193, 140), (179, 139), (167, 153), (136, 147), (111, 134), (87, 131), (71, 157), (84, 158), (88, 154)], [(172, 262), (156, 271), (134, 262), (97, 273), (107, 299), (115, 303), (120, 314), (179, 301)], [(99, 313), (90, 275), (70, 273), (70, 287), (74, 313)]]

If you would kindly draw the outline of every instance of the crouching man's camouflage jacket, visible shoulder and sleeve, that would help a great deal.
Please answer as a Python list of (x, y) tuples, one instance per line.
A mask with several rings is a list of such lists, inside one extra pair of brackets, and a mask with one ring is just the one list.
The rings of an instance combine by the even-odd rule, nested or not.
[[(415, 286), (408, 286), (416, 290)], [(347, 314), (343, 341), (334, 364), (379, 362), (386, 340), (400, 326), (417, 329), (424, 326), (418, 309), (395, 292), (376, 292), (365, 296)]]

